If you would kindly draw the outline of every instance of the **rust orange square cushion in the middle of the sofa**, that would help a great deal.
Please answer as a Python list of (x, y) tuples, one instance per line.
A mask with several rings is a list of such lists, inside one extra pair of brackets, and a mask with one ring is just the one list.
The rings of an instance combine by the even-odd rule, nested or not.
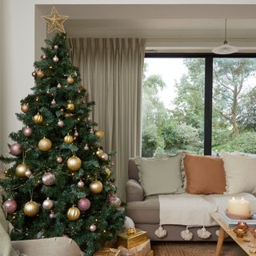
[(222, 158), (186, 153), (184, 169), (187, 193), (223, 194), (226, 191)]

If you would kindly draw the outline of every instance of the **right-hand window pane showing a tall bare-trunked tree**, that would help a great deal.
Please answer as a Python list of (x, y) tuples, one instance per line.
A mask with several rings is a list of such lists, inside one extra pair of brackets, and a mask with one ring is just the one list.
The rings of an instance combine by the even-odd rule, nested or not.
[(256, 153), (256, 58), (214, 58), (212, 150)]

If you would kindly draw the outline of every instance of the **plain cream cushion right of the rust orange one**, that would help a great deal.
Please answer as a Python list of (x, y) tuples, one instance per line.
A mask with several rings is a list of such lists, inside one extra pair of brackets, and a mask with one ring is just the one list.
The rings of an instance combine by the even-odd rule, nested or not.
[(226, 194), (256, 194), (256, 157), (247, 154), (221, 154), (226, 172)]

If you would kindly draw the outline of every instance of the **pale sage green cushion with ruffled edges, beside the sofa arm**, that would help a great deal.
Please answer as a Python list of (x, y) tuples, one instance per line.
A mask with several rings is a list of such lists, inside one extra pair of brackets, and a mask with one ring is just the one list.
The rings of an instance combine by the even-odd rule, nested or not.
[(146, 196), (184, 192), (181, 175), (182, 154), (166, 158), (136, 157), (134, 160), (139, 170), (139, 182)]

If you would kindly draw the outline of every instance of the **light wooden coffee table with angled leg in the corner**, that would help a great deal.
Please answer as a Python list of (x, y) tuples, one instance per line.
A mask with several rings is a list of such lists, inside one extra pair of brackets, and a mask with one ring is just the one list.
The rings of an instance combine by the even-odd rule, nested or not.
[[(218, 243), (216, 247), (216, 256), (221, 255), (222, 244), (225, 238), (225, 234), (229, 234), (230, 238), (234, 240), (246, 252), (248, 255), (256, 255), (256, 238), (251, 234), (250, 230), (247, 231), (247, 235), (244, 238), (237, 238), (237, 235), (234, 233), (234, 227), (226, 226), (226, 223), (222, 221), (222, 218), (218, 216), (218, 213), (211, 213), (212, 218), (220, 226)], [(250, 242), (249, 242), (250, 241)]]

